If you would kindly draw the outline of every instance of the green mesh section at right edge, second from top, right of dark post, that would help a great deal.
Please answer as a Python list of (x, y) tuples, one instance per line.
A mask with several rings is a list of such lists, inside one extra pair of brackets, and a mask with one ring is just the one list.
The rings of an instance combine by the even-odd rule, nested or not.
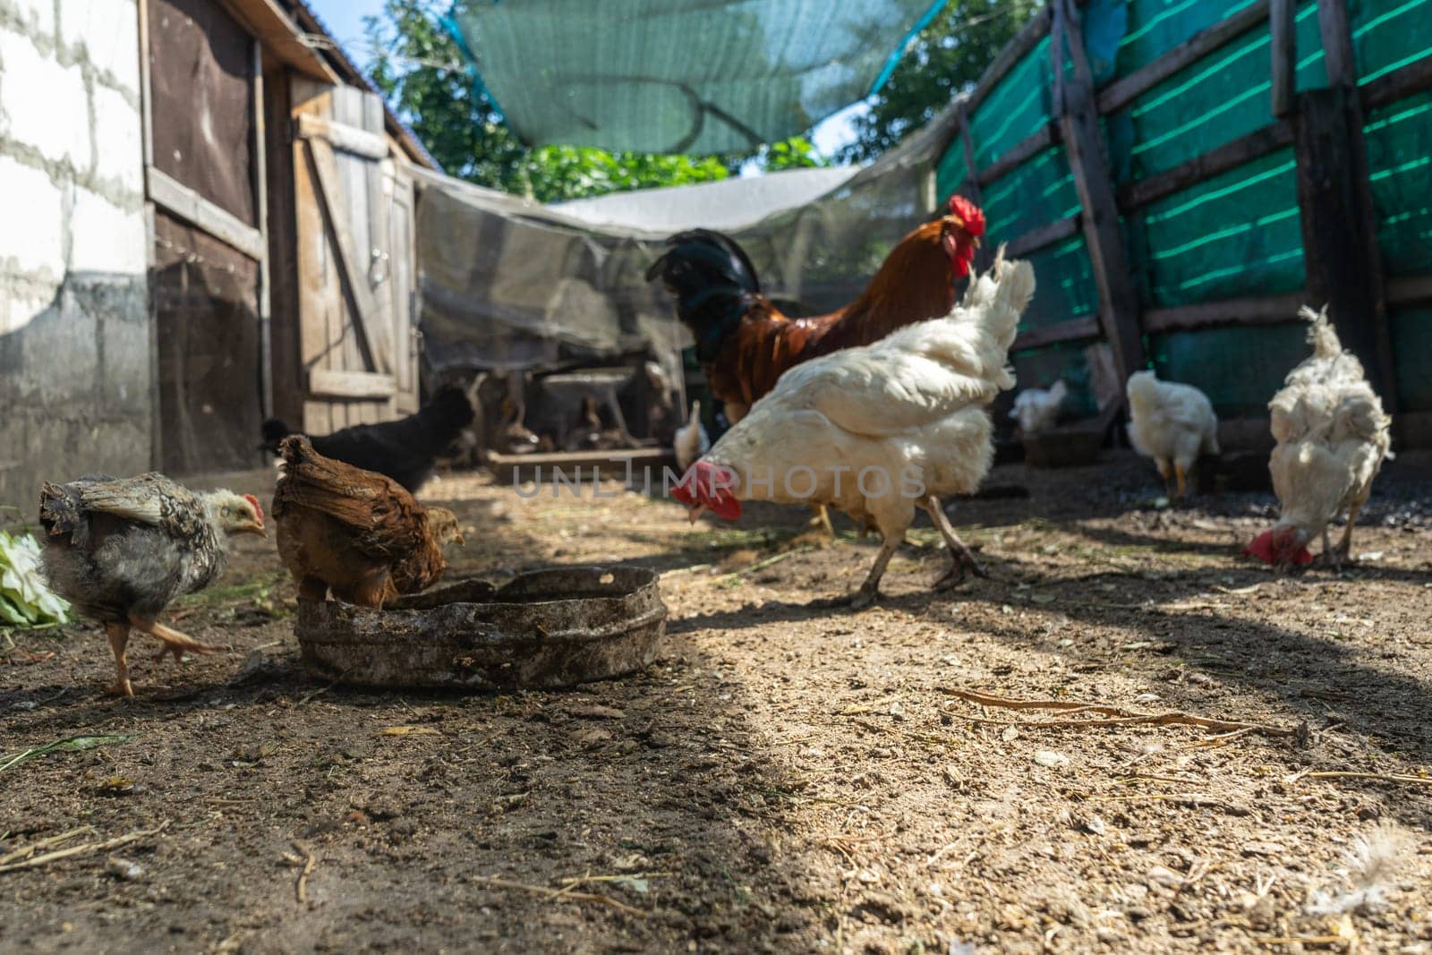
[(1375, 109), (1363, 130), (1389, 275), (1432, 272), (1432, 90)]

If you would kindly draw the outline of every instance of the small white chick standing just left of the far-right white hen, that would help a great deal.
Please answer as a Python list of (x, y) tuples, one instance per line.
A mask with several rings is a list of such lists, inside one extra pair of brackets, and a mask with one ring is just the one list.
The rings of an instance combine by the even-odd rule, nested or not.
[[(1128, 442), (1154, 460), (1167, 487), (1177, 480), (1179, 497), (1201, 454), (1219, 452), (1219, 417), (1213, 402), (1193, 385), (1158, 381), (1151, 371), (1128, 377)], [(1171, 497), (1171, 495), (1170, 495)]]

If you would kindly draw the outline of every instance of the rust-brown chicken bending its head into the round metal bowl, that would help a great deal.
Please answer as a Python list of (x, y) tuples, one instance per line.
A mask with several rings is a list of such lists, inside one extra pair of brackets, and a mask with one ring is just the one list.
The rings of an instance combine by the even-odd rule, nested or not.
[(325, 600), (332, 590), (381, 610), (441, 580), (442, 546), (463, 543), (453, 511), (422, 507), (397, 481), (322, 457), (301, 434), (284, 438), (279, 454), (278, 553), (299, 597)]

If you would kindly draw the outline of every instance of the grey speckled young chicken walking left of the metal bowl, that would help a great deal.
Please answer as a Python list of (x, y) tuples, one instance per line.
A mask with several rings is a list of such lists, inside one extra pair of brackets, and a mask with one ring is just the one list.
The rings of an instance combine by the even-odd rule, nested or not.
[(268, 535), (252, 494), (195, 494), (163, 474), (82, 477), (40, 491), (44, 567), (50, 584), (105, 626), (115, 653), (113, 693), (133, 696), (125, 649), (130, 630), (156, 637), (165, 651), (216, 653), (158, 617), (182, 594), (218, 580), (229, 534)]

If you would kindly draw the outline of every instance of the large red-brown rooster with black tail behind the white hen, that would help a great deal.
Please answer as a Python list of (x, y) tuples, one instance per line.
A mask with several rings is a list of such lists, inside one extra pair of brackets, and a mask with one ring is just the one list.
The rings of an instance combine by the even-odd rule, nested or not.
[(896, 328), (938, 318), (954, 304), (954, 281), (969, 275), (984, 213), (951, 196), (949, 215), (927, 222), (891, 249), (859, 298), (812, 318), (788, 318), (760, 294), (746, 252), (719, 232), (693, 229), (647, 269), (676, 296), (676, 314), (696, 338), (706, 385), (740, 421), (750, 404), (803, 361), (869, 345)]

